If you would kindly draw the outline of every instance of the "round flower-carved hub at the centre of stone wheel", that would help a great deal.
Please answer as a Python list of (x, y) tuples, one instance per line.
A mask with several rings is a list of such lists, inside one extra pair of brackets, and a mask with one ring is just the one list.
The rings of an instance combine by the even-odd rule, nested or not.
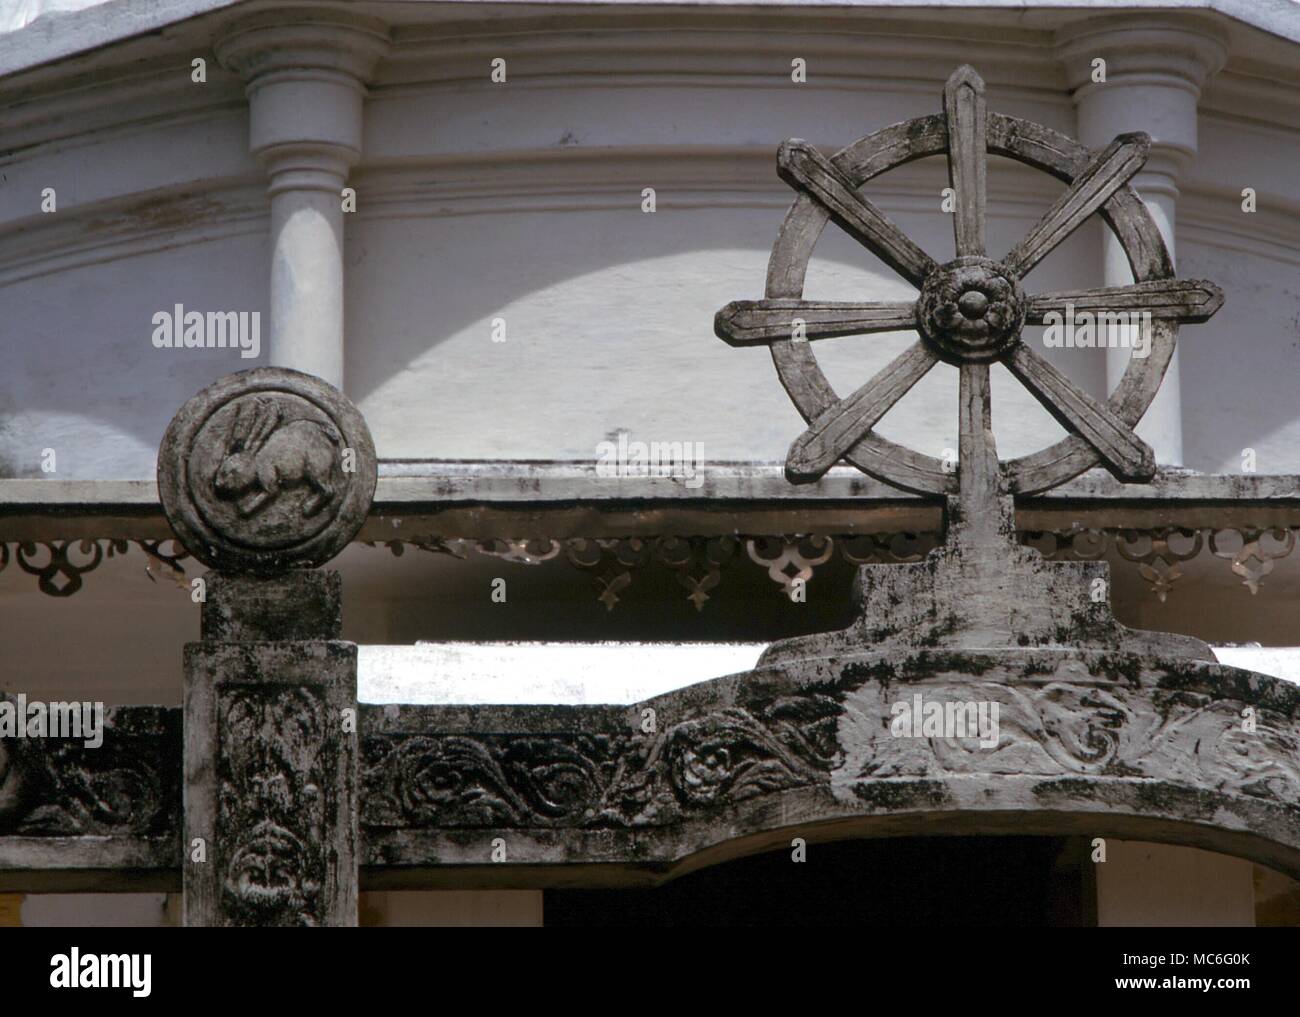
[(950, 364), (997, 360), (1020, 338), (1026, 300), (1019, 282), (988, 258), (958, 258), (920, 289), (920, 334)]

